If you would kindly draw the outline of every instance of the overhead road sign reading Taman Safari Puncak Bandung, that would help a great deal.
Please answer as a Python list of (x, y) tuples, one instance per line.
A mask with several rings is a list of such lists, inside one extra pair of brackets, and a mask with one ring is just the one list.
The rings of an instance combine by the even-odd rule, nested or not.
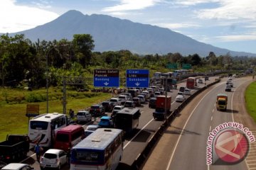
[(119, 87), (119, 69), (95, 69), (93, 75), (95, 87)]

